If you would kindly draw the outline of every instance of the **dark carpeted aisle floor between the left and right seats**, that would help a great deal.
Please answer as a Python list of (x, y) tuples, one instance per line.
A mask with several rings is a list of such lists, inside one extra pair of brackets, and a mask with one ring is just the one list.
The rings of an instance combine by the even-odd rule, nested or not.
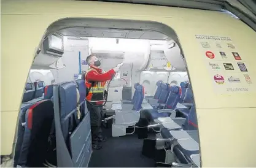
[(143, 139), (137, 134), (112, 137), (111, 128), (103, 129), (107, 141), (94, 150), (88, 167), (153, 167), (155, 161), (141, 155)]

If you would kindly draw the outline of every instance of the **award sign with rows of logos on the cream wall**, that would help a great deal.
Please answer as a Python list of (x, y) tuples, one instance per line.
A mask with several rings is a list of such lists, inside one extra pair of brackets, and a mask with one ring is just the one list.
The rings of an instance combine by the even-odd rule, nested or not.
[[(195, 35), (217, 94), (255, 92), (249, 63), (230, 37)], [(256, 81), (255, 81), (256, 82)]]

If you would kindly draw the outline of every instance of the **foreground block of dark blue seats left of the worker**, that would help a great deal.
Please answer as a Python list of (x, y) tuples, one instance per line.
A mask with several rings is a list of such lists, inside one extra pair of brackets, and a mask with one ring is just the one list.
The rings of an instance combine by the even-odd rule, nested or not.
[[(88, 165), (91, 132), (84, 83), (76, 80), (45, 86), (44, 99), (21, 108), (14, 167), (63, 167), (56, 159), (58, 150), (58, 158), (71, 162), (66, 164), (69, 167)], [(56, 141), (64, 145), (60, 148)]]

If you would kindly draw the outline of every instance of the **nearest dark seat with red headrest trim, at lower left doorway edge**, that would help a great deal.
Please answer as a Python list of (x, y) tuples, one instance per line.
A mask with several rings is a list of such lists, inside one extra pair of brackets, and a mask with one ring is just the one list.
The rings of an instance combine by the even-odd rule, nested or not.
[(20, 113), (14, 167), (44, 167), (53, 118), (50, 100), (35, 102), (26, 112)]

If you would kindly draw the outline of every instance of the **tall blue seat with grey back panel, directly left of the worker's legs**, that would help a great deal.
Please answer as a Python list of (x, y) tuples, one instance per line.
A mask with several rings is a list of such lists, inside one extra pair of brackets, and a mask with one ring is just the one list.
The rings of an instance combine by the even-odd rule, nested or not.
[[(76, 82), (58, 84), (60, 121), (74, 167), (87, 167), (92, 152), (90, 113), (81, 118), (81, 112), (77, 108), (77, 102), (80, 101), (77, 86), (82, 87), (82, 82), (79, 85)], [(81, 96), (84, 96), (84, 91)]]

